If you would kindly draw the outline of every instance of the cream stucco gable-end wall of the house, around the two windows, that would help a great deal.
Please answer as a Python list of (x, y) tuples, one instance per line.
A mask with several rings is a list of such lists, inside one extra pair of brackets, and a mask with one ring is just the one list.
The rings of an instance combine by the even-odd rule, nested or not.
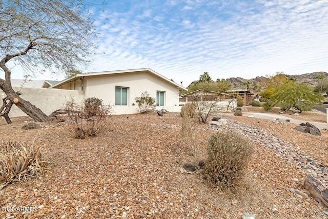
[[(115, 106), (115, 87), (128, 88), (128, 106)], [(170, 82), (149, 72), (134, 72), (84, 77), (85, 98), (103, 99), (105, 105), (114, 105), (113, 114), (131, 114), (138, 112), (135, 97), (147, 91), (156, 98), (157, 91), (165, 92), (164, 107), (170, 112), (180, 111), (179, 90)], [(133, 106), (135, 104), (135, 106)]]

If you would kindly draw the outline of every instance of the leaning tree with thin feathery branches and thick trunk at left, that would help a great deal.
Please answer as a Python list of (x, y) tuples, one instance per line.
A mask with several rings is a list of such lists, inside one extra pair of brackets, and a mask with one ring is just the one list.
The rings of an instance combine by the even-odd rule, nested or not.
[(96, 36), (90, 6), (84, 0), (0, 1), (0, 89), (35, 121), (49, 117), (13, 90), (10, 66), (20, 65), (33, 74), (43, 68), (68, 72), (86, 65)]

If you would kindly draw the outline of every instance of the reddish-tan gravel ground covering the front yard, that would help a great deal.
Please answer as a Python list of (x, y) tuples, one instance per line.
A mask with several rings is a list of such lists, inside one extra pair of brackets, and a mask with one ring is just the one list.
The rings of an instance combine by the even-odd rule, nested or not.
[[(228, 124), (222, 129), (256, 127), (327, 165), (327, 130), (313, 136), (297, 132), (295, 124), (223, 116)], [(325, 117), (304, 113), (297, 119)], [(179, 113), (162, 118), (156, 113), (110, 116), (107, 130), (85, 140), (73, 138), (65, 125), (55, 123), (21, 129), (28, 120), (13, 118), (10, 125), (1, 121), (0, 134), (14, 141), (32, 142), (36, 137), (35, 144), (42, 145), (48, 156), (49, 171), (0, 190), (0, 218), (241, 218), (245, 212), (256, 218), (327, 218), (327, 207), (290, 191), (306, 193), (302, 184), (309, 173), (254, 137), (249, 137), (255, 152), (247, 177), (237, 192), (225, 194), (209, 186), (199, 171), (180, 173), (184, 163), (206, 157), (208, 137), (216, 130), (197, 125), (200, 144), (195, 160), (180, 136)]]

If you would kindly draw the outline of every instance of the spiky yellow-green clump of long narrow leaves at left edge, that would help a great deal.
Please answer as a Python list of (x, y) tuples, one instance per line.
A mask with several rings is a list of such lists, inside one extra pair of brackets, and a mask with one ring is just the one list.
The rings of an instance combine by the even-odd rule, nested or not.
[(10, 183), (24, 183), (29, 178), (40, 177), (48, 162), (42, 156), (42, 147), (25, 142), (0, 143), (0, 189)]

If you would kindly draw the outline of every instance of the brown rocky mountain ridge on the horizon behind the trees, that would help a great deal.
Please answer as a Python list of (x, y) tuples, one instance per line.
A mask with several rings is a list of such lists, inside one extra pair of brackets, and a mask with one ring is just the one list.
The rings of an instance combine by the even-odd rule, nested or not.
[[(299, 75), (288, 75), (286, 74), (286, 76), (288, 78), (295, 78), (296, 81), (298, 83), (302, 83), (302, 84), (306, 84), (309, 85), (311, 87), (315, 87), (318, 84), (318, 79), (316, 78), (318, 75), (325, 75), (325, 78), (328, 78), (328, 73), (327, 72), (313, 72), (313, 73), (308, 73), (308, 74), (299, 74)], [(250, 81), (251, 85), (253, 85), (254, 83), (259, 84), (259, 82), (261, 81), (261, 79), (263, 79), (265, 77), (263, 76), (257, 76), (255, 78), (252, 79), (244, 79), (242, 77), (231, 77), (231, 78), (227, 78), (226, 80), (228, 82), (230, 82), (234, 88), (245, 88), (245, 85), (243, 85), (243, 83), (245, 81)]]

